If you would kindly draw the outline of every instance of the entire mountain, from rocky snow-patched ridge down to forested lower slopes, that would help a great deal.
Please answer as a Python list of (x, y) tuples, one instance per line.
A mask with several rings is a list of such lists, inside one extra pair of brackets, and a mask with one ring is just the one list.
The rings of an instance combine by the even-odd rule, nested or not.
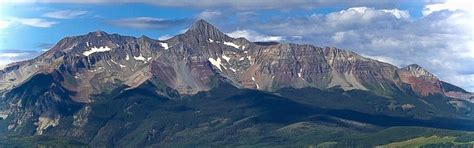
[(231, 38), (204, 20), (167, 40), (66, 37), (1, 70), (0, 101), (3, 146), (474, 144), (474, 94), (416, 64)]

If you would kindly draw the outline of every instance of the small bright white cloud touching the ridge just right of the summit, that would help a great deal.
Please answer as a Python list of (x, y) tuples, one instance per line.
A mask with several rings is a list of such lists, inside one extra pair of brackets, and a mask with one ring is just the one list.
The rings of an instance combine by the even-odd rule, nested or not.
[(252, 30), (236, 30), (230, 33), (227, 33), (230, 37), (233, 38), (239, 38), (243, 37), (246, 38), (250, 41), (257, 42), (257, 41), (262, 41), (262, 42), (268, 42), (268, 41), (281, 41), (283, 40), (283, 37), (281, 36), (268, 36), (268, 35), (263, 35), (258, 32), (252, 31)]

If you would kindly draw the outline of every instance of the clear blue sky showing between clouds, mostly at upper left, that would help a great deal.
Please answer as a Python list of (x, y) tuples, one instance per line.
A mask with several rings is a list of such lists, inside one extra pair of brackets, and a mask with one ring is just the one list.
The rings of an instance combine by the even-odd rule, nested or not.
[[(398, 5), (398, 9), (410, 9), (412, 16), (421, 15), (423, 6), (412, 3), (413, 5)], [(416, 4), (416, 5), (415, 5)], [(230, 6), (229, 6), (230, 7)], [(175, 35), (181, 30), (186, 29), (193, 20), (199, 18), (204, 12), (220, 12), (232, 11), (225, 15), (235, 15), (233, 12), (251, 12), (257, 15), (259, 21), (271, 19), (272, 17), (304, 17), (311, 14), (327, 14), (331, 12), (347, 9), (344, 6), (327, 6), (307, 9), (263, 9), (263, 10), (247, 10), (232, 8), (200, 8), (200, 7), (177, 7), (177, 6), (160, 6), (149, 3), (4, 3), (1, 6), (1, 18), (39, 18), (45, 22), (51, 22), (48, 27), (35, 27), (29, 25), (12, 24), (8, 29), (2, 32), (8, 35), (2, 36), (0, 47), (2, 49), (20, 49), (20, 50), (42, 50), (41, 45), (53, 44), (65, 36), (81, 35), (87, 32), (103, 30), (108, 33), (119, 33), (123, 35), (141, 36), (146, 35), (152, 38), (159, 38), (163, 35)], [(386, 7), (386, 6), (379, 6)], [(58, 16), (48, 16), (47, 14), (58, 12), (57, 15), (68, 15), (71, 18), (59, 18)], [(60, 13), (63, 12), (63, 13)], [(211, 14), (212, 15), (212, 14)], [(216, 14), (214, 14), (216, 15)], [(218, 14), (217, 14), (218, 15)], [(221, 14), (224, 15), (224, 14)], [(120, 19), (130, 19), (148, 17), (164, 20), (186, 19), (183, 23), (177, 23), (172, 27), (163, 28), (139, 28), (112, 25), (110, 22)], [(219, 17), (219, 16), (209, 16)], [(235, 16), (226, 16), (235, 17)], [(206, 18), (205, 18), (206, 19)], [(223, 30), (233, 30), (239, 27), (238, 22), (232, 19), (224, 21), (208, 20), (216, 25), (223, 25)], [(234, 24), (232, 24), (234, 23)], [(237, 28), (236, 28), (237, 27)], [(20, 40), (19, 40), (20, 38)]]

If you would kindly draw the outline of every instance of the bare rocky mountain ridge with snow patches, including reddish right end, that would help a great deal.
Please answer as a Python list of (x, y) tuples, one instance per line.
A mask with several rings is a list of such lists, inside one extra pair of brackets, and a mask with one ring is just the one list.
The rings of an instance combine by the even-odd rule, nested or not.
[[(176, 99), (211, 90), (219, 81), (268, 92), (340, 87), (390, 95), (409, 85), (420, 96), (474, 97), (418, 65), (399, 69), (334, 47), (253, 43), (200, 20), (164, 41), (102, 31), (66, 37), (35, 59), (10, 64), (0, 70), (0, 118), (9, 118), (8, 130), (17, 133), (25, 132), (27, 121), (35, 123), (37, 135), (70, 122), (77, 128), (71, 133), (80, 135), (98, 95), (152, 83), (158, 89), (153, 93)], [(463, 108), (462, 102), (451, 104)]]

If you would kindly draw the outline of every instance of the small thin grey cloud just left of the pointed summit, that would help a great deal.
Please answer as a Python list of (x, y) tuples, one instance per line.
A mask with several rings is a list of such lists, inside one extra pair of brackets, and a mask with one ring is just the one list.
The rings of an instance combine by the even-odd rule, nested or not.
[(137, 29), (169, 29), (182, 26), (186, 22), (188, 22), (187, 19), (161, 19), (153, 17), (136, 17), (108, 21), (111, 25)]

